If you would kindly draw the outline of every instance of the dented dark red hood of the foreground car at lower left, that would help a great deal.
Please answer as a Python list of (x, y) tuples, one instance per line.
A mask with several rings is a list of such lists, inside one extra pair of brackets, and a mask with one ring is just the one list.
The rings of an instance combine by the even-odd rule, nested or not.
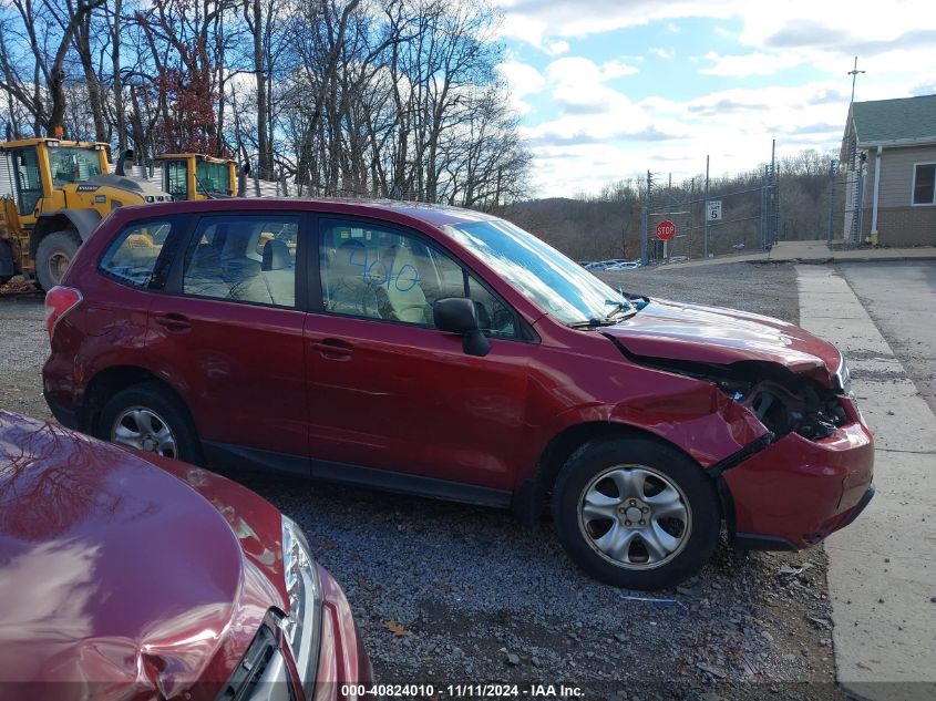
[(223, 681), (282, 601), (189, 485), (2, 411), (0, 592), (0, 679), (63, 682), (55, 698), (171, 698)]

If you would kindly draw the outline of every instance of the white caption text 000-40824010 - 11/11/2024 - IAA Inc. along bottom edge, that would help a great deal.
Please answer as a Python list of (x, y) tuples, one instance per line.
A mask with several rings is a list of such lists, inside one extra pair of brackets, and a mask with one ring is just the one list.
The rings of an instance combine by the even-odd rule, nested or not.
[(566, 684), (342, 684), (344, 697), (376, 697), (379, 699), (582, 699), (580, 687)]

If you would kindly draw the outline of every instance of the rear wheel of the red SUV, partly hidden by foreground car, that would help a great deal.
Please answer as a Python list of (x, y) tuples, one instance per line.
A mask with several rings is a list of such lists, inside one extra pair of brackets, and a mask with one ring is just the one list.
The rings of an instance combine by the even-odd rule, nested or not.
[(198, 435), (188, 411), (156, 383), (137, 384), (114, 394), (101, 412), (100, 439), (200, 464)]

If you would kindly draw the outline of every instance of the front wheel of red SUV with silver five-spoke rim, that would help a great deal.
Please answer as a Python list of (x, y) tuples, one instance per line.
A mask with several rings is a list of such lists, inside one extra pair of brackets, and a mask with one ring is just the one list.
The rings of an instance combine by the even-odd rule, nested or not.
[[(639, 484), (647, 501), (636, 493), (635, 499), (616, 501), (620, 484)], [(586, 493), (594, 508), (584, 508)], [(615, 518), (605, 518), (606, 509)], [(646, 518), (647, 525), (626, 520), (634, 517), (639, 524)], [(616, 587), (654, 590), (678, 585), (708, 561), (718, 543), (721, 508), (712, 481), (676, 449), (644, 437), (599, 439), (578, 449), (559, 473), (553, 520), (566, 553), (586, 573)], [(641, 538), (642, 533), (650, 538)], [(672, 542), (679, 545), (667, 550)]]

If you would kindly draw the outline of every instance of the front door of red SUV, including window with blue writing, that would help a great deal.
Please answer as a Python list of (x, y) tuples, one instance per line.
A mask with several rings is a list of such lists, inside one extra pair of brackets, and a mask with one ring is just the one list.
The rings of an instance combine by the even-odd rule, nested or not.
[[(312, 474), (504, 503), (525, 426), (520, 318), (415, 231), (323, 217), (318, 249), (305, 329)], [(432, 326), (435, 299), (469, 295), (491, 338), (484, 358)]]

